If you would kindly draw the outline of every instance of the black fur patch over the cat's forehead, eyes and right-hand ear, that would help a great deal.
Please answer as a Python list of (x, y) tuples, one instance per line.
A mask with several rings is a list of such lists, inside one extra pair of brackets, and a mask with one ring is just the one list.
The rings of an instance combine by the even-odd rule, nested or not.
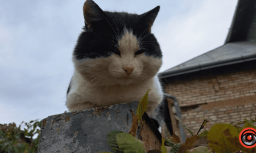
[[(96, 7), (98, 6), (91, 8)], [(84, 31), (77, 40), (73, 56), (76, 59), (112, 56), (112, 50), (118, 48), (118, 40), (121, 39), (126, 28), (137, 37), (139, 48), (144, 50), (146, 56), (162, 58), (159, 43), (150, 31), (159, 8), (159, 6), (155, 7), (142, 15), (100, 11), (101, 16), (97, 16), (97, 21), (90, 22), (90, 28), (86, 26), (83, 28)], [(94, 11), (99, 9), (100, 7)]]

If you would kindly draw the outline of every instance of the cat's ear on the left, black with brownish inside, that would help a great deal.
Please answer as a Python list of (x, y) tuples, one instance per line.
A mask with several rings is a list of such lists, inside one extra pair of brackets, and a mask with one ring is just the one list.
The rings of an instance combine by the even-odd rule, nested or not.
[(104, 19), (104, 11), (92, 0), (86, 0), (83, 7), (85, 28), (92, 28), (93, 24)]

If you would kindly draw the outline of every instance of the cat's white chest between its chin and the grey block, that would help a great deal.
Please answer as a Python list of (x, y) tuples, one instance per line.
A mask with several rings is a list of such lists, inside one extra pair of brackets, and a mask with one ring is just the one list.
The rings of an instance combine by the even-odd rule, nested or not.
[[(84, 80), (81, 75), (75, 73), (72, 78), (72, 86), (67, 95), (67, 106), (92, 103), (97, 107), (118, 103), (130, 103), (140, 101), (147, 89), (149, 107), (155, 108), (162, 101), (162, 88), (157, 76), (148, 82), (130, 85), (93, 86)], [(92, 107), (92, 105), (90, 105)], [(84, 109), (83, 107), (81, 107)], [(76, 108), (77, 109), (77, 108)], [(72, 110), (69, 110), (72, 111)]]

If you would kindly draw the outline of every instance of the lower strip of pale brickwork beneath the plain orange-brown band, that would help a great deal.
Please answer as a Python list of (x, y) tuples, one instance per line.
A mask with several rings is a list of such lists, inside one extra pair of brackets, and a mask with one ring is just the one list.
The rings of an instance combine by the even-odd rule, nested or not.
[[(256, 100), (256, 96), (253, 96), (254, 100)], [(218, 102), (216, 102), (218, 104)], [(217, 105), (216, 104), (216, 105)], [(208, 104), (206, 104), (208, 105)], [(236, 120), (243, 120), (246, 118), (247, 120), (255, 119), (256, 117), (256, 103), (246, 103), (240, 105), (229, 105), (226, 107), (212, 107), (212, 109), (204, 109), (204, 107), (199, 107), (196, 109), (192, 109), (187, 112), (183, 112), (181, 117), (183, 118), (183, 122), (188, 128), (193, 132), (197, 133), (204, 119), (208, 118), (210, 120), (207, 125), (205, 125), (204, 129), (210, 130), (212, 125), (217, 123), (230, 123)], [(202, 130), (204, 131), (204, 130)], [(201, 133), (201, 132), (200, 132)], [(185, 134), (187, 137), (190, 137), (191, 134), (185, 130)]]

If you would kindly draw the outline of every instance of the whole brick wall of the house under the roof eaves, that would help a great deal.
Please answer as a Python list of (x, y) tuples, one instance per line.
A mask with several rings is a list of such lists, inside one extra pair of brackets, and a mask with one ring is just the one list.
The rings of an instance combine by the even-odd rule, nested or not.
[(256, 61), (173, 76), (163, 82), (166, 93), (177, 97), (182, 119), (193, 132), (205, 118), (211, 120), (207, 128), (218, 122), (255, 118)]

